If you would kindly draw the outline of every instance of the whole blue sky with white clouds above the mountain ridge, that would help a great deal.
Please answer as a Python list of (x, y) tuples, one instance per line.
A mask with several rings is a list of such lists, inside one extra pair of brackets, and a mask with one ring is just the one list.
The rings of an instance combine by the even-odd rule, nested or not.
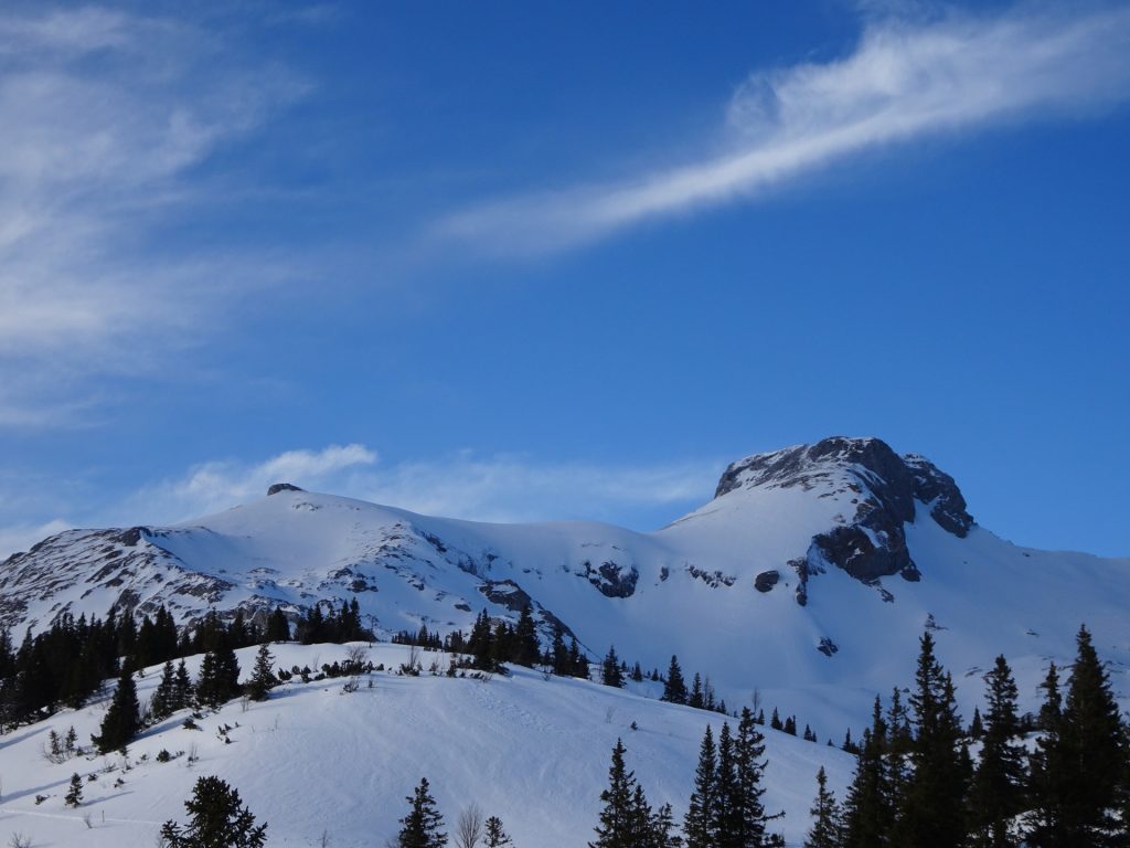
[(6, 3), (0, 553), (925, 453), (1130, 554), (1125, 3)]

